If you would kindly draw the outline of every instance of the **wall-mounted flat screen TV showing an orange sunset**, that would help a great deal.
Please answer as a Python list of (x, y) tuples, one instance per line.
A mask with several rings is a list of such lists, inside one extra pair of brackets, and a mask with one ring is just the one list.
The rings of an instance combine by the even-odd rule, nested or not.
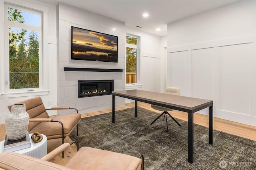
[(71, 27), (71, 39), (71, 59), (117, 63), (117, 36)]

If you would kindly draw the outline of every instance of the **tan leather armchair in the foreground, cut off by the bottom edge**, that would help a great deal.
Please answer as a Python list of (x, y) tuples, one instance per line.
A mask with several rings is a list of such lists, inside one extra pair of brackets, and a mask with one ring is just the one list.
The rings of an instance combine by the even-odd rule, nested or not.
[[(143, 155), (138, 158), (107, 150), (82, 147), (62, 166), (53, 162), (55, 156), (70, 147), (64, 143), (41, 159), (13, 152), (0, 153), (0, 169), (6, 170), (143, 170)], [(77, 145), (78, 147), (78, 145)]]

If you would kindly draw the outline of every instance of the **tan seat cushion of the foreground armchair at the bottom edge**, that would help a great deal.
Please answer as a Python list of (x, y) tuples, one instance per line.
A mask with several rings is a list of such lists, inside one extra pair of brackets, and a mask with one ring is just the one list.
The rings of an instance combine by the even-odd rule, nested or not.
[(141, 159), (127, 154), (82, 147), (65, 166), (76, 170), (140, 170)]

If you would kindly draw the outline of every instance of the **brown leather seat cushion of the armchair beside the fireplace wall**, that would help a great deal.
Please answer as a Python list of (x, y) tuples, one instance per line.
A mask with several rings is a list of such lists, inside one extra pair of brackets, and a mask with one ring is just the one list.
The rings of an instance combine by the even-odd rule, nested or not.
[[(76, 127), (76, 125), (81, 120), (80, 113), (73, 113), (67, 115), (54, 115), (50, 116), (54, 121), (61, 121), (64, 125), (64, 137), (70, 135), (72, 130)], [(47, 139), (55, 139), (62, 137), (62, 126), (59, 122), (41, 122), (33, 129), (29, 131), (29, 133), (39, 132), (47, 136)]]

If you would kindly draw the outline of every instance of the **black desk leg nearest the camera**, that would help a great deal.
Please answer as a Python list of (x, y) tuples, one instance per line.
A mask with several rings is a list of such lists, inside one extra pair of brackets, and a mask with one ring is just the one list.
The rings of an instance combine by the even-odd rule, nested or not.
[(194, 162), (194, 113), (188, 113), (188, 162)]

